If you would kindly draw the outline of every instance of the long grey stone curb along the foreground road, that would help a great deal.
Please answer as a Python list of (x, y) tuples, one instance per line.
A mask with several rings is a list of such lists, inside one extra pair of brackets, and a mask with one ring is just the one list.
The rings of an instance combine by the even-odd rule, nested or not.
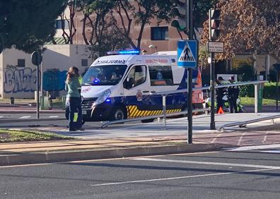
[(151, 147), (128, 147), (107, 150), (79, 150), (67, 152), (21, 153), (0, 155), (0, 166), (18, 164), (42, 164), (51, 162), (67, 162), (87, 159), (107, 159), (119, 157), (135, 157), (146, 155), (168, 155), (182, 152), (204, 152), (221, 149), (215, 143), (168, 145)]

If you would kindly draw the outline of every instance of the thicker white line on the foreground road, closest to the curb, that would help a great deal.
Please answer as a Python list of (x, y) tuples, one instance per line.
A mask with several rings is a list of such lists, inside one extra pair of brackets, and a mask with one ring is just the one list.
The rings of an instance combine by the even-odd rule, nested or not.
[(230, 166), (230, 167), (252, 167), (252, 168), (263, 168), (263, 169), (280, 169), (280, 167), (259, 165), (259, 164), (235, 164), (226, 162), (199, 162), (199, 161), (188, 161), (188, 160), (177, 160), (177, 159), (156, 159), (156, 158), (134, 158), (136, 160), (153, 161), (153, 162), (176, 162), (186, 164), (206, 164), (206, 165), (219, 165), (219, 166)]

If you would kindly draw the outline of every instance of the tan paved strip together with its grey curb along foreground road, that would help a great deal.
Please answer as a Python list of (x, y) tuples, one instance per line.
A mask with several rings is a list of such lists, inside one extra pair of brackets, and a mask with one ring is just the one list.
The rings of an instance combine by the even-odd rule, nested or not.
[(165, 155), (217, 150), (214, 143), (187, 145), (180, 138), (119, 138), (4, 143), (0, 145), (0, 165), (39, 164), (84, 159)]

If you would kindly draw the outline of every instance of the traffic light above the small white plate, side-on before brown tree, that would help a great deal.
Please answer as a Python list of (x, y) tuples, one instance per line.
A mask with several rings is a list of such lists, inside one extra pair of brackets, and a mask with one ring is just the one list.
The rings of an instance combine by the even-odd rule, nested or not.
[(221, 32), (221, 10), (211, 8), (209, 10), (209, 39), (216, 40)]

